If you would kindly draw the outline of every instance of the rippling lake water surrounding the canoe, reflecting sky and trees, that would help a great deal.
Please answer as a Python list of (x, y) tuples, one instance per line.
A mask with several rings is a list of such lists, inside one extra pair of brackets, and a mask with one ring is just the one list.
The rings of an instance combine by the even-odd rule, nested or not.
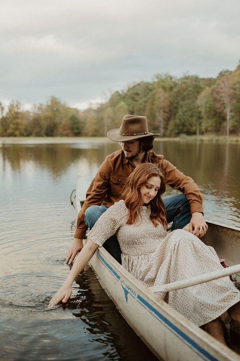
[[(0, 143), (1, 359), (155, 359), (88, 267), (67, 306), (46, 308), (69, 272), (64, 259), (76, 227), (70, 194), (77, 176), (84, 196), (100, 163), (118, 148), (108, 140)], [(156, 141), (154, 150), (193, 177), (206, 219), (240, 227), (239, 143)]]

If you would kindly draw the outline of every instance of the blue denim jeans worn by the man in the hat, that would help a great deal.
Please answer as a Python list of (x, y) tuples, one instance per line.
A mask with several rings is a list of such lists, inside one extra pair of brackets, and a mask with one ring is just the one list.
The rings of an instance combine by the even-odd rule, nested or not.
[[(191, 210), (189, 202), (184, 194), (168, 197), (163, 199), (166, 210), (167, 223), (173, 222), (172, 230), (183, 228), (190, 222)], [(91, 205), (85, 210), (85, 223), (92, 229), (98, 218), (104, 213), (108, 207), (106, 205)], [(106, 240), (104, 248), (113, 256), (120, 264), (121, 249), (116, 235)]]

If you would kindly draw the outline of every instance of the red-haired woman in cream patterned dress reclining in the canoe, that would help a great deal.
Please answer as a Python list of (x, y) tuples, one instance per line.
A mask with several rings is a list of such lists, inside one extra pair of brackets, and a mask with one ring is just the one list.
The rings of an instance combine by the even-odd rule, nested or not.
[[(212, 270), (221, 269), (212, 247), (185, 230), (167, 235), (165, 191), (160, 170), (143, 163), (129, 175), (122, 200), (101, 215), (88, 233), (87, 245), (80, 252), (62, 287), (49, 307), (66, 303), (72, 284), (97, 247), (116, 233), (122, 251), (122, 265), (145, 286), (157, 286)], [(220, 316), (228, 310), (231, 327), (240, 336), (240, 292), (229, 277), (171, 292), (159, 292), (170, 306), (225, 344)]]

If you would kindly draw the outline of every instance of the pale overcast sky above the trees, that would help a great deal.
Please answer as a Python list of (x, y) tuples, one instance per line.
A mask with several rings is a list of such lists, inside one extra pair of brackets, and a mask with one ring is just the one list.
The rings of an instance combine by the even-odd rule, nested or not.
[(239, 0), (2, 0), (0, 101), (84, 107), (158, 73), (240, 59)]

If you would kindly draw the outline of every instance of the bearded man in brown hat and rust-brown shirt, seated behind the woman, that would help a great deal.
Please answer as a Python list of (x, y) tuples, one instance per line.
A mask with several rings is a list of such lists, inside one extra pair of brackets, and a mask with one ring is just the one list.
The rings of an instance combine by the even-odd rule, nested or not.
[[(164, 200), (167, 222), (173, 221), (172, 230), (184, 228), (196, 236), (203, 236), (208, 226), (203, 219), (202, 195), (193, 179), (180, 172), (163, 156), (155, 155), (153, 139), (160, 134), (149, 133), (147, 118), (125, 115), (120, 129), (108, 132), (109, 139), (119, 142), (121, 150), (107, 156), (91, 182), (83, 207), (78, 215), (77, 229), (73, 244), (68, 251), (66, 262), (72, 263), (83, 248), (86, 230), (114, 202), (121, 199), (121, 191), (132, 170), (143, 162), (156, 164), (165, 175), (165, 183), (183, 194)], [(121, 263), (121, 251), (114, 235), (104, 247)]]

